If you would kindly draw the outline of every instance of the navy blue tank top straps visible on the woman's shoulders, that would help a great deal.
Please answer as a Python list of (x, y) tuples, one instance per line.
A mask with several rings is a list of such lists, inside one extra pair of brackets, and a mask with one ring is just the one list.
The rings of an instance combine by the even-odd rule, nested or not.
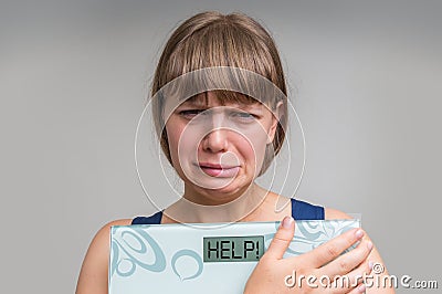
[[(324, 207), (313, 206), (311, 203), (291, 199), (292, 201), (292, 217), (295, 220), (324, 220), (325, 212)], [(137, 217), (133, 219), (131, 224), (160, 224), (162, 218), (162, 211), (150, 217)]]

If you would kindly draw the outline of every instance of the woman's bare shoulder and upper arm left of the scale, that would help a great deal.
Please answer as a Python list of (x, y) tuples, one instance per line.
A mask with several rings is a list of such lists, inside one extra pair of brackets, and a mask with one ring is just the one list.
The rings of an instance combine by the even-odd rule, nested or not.
[(130, 219), (115, 220), (98, 230), (87, 249), (76, 285), (76, 294), (107, 293), (110, 227), (128, 225)]

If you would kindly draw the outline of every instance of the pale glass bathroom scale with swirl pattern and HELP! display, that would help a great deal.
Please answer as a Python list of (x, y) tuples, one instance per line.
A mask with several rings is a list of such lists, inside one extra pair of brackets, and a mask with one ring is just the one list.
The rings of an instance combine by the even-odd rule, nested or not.
[[(112, 227), (109, 294), (243, 293), (278, 225), (236, 222)], [(359, 220), (296, 221), (284, 258), (311, 251), (359, 227)]]

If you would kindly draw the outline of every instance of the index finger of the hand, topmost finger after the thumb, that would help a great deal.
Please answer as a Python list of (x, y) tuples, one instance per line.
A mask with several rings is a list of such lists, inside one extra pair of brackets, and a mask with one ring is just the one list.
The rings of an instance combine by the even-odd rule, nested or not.
[(335, 260), (343, 253), (344, 250), (348, 249), (364, 237), (361, 229), (349, 230), (318, 248), (305, 253), (305, 258), (314, 267), (320, 267), (324, 264)]

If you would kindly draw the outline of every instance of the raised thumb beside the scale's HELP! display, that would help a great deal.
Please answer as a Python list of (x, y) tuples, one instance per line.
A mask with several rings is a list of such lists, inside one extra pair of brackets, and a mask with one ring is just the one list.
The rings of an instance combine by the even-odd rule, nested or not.
[(281, 260), (292, 242), (294, 233), (295, 220), (292, 217), (285, 217), (270, 243), (265, 255), (270, 259)]

